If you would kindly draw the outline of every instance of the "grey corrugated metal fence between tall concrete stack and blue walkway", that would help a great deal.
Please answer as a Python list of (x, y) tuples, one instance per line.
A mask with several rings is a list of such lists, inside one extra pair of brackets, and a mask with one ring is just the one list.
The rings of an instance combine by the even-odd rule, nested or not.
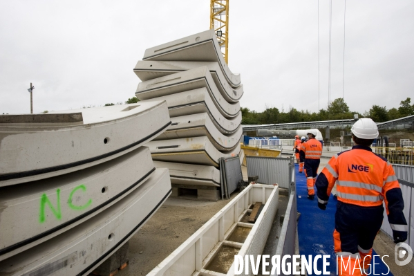
[(258, 176), (258, 183), (275, 184), (289, 189), (292, 171), (292, 158), (246, 156), (247, 175)]

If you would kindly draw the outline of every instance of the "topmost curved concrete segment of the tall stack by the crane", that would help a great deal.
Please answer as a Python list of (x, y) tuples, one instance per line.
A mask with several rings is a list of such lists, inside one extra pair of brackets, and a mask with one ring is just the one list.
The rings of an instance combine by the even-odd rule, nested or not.
[(214, 30), (183, 37), (148, 48), (145, 50), (144, 60), (158, 61), (185, 61), (185, 62), (218, 62), (221, 71), (233, 87), (241, 84), (240, 74), (234, 74), (227, 66)]

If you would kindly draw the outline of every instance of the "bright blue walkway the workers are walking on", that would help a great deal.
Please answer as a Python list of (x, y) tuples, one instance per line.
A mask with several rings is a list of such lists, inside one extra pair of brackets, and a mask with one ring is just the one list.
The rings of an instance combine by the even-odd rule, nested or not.
[[(332, 233), (335, 229), (337, 200), (333, 199), (333, 196), (331, 195), (326, 210), (320, 210), (318, 208), (316, 196), (313, 201), (310, 201), (307, 198), (308, 192), (305, 174), (299, 174), (299, 166), (297, 164), (295, 169), (297, 205), (298, 212), (301, 213), (301, 217), (298, 222), (299, 252), (301, 255), (312, 255), (313, 257), (316, 255), (330, 255), (330, 265), (328, 266), (328, 271), (330, 271), (330, 275), (337, 275), (337, 261), (332, 237)], [(377, 255), (377, 253), (373, 251), (373, 255)], [(371, 261), (371, 267), (373, 267), (372, 264), (373, 261)], [(318, 261), (318, 270), (322, 270), (321, 261)], [(379, 257), (376, 257), (375, 274), (379, 273), (379, 275), (381, 275), (381, 273), (384, 273), (384, 275), (386, 275), (387, 272), (388, 268), (386, 265)], [(371, 275), (373, 275), (372, 271)], [(391, 276), (393, 274), (390, 272), (388, 275)]]

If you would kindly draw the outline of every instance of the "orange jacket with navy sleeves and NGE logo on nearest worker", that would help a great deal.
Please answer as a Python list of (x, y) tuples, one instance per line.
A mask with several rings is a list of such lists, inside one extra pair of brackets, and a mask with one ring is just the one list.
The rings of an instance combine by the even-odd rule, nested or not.
[[(338, 201), (371, 207), (382, 205), (391, 228), (408, 230), (402, 210), (402, 192), (391, 163), (374, 154), (370, 147), (357, 145), (349, 151), (333, 156), (317, 178), (317, 196), (321, 203), (328, 203), (332, 187), (337, 181)], [(395, 229), (394, 229), (395, 228)]]

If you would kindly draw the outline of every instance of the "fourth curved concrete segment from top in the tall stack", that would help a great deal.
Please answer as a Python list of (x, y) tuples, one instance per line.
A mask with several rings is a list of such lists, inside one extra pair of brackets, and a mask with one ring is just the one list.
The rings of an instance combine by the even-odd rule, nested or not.
[(176, 93), (159, 98), (145, 100), (144, 102), (154, 100), (165, 100), (168, 105), (169, 116), (171, 118), (186, 116), (195, 113), (206, 112), (209, 114), (211, 121), (216, 125), (222, 134), (232, 134), (241, 125), (241, 112), (232, 119), (225, 118), (218, 111), (213, 100), (211, 100), (207, 89), (200, 88), (191, 91)]

